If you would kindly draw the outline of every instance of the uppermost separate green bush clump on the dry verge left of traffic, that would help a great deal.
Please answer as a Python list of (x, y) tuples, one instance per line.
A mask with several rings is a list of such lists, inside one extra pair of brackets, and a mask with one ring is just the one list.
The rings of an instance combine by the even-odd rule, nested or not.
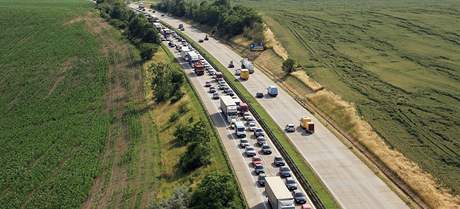
[(181, 86), (185, 82), (185, 78), (171, 64), (152, 64), (148, 71), (153, 75), (151, 86), (157, 103), (168, 99), (175, 102), (182, 98), (184, 93)]

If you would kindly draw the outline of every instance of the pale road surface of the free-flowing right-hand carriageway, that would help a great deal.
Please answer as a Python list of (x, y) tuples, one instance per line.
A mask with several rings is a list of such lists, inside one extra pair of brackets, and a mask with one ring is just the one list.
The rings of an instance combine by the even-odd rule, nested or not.
[[(162, 17), (158, 14), (156, 13), (154, 16), (169, 25), (184, 24), (184, 33), (194, 41), (198, 42), (205, 36), (205, 33), (179, 19), (167, 15)], [(224, 66), (227, 66), (230, 61), (238, 66), (242, 59), (225, 44), (212, 37), (200, 45)], [(265, 93), (267, 86), (277, 86), (261, 71), (257, 69), (255, 71), (248, 81), (242, 82), (249, 92), (252, 94), (256, 92)], [(302, 116), (313, 118), (316, 126), (314, 134), (306, 135), (302, 131), (297, 131), (288, 134), (288, 138), (311, 165), (342, 208), (408, 208), (396, 193), (287, 92), (280, 89), (276, 98), (266, 96), (258, 101), (281, 128), (284, 128), (287, 123), (298, 124)]]

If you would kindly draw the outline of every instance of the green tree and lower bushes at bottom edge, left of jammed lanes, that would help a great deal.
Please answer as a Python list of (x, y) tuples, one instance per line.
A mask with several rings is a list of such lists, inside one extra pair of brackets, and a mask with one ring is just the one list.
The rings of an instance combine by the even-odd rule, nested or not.
[(237, 189), (232, 176), (214, 172), (204, 177), (195, 192), (184, 187), (174, 190), (171, 197), (153, 202), (149, 209), (216, 209), (235, 206)]

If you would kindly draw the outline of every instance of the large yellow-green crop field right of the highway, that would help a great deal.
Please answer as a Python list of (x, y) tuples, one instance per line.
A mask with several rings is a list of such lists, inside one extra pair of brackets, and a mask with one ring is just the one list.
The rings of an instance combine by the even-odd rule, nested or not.
[(460, 2), (240, 0), (386, 142), (460, 194)]

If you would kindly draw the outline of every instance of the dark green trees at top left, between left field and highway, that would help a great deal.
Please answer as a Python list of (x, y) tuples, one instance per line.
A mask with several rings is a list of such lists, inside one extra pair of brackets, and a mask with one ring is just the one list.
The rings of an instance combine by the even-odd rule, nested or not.
[(123, 30), (123, 34), (140, 50), (143, 60), (149, 59), (158, 49), (158, 31), (143, 16), (134, 13), (121, 0), (97, 0), (101, 16)]

